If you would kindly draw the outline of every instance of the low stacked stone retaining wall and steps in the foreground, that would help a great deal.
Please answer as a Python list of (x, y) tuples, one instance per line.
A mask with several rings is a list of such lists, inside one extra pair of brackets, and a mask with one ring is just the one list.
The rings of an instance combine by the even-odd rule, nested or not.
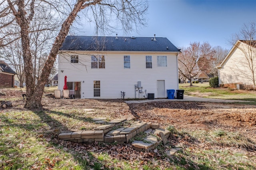
[[(93, 121), (104, 121), (104, 118), (95, 118)], [(132, 142), (132, 147), (137, 150), (149, 151), (159, 145), (160, 142), (167, 143), (170, 131), (166, 129), (154, 129), (159, 127), (158, 124), (143, 121), (134, 121), (130, 127), (120, 127), (120, 123), (124, 121), (134, 121), (134, 118), (116, 119), (109, 121), (105, 125), (100, 125), (91, 131), (74, 131), (60, 133), (59, 139), (66, 141), (74, 141), (78, 143), (129, 143), (129, 140), (141, 132), (145, 132), (148, 136), (144, 141)], [(121, 124), (122, 125), (122, 124)], [(114, 129), (115, 127), (120, 127)], [(160, 135), (161, 133), (161, 135)], [(166, 137), (166, 138), (164, 138)], [(164, 139), (159, 140), (158, 139)]]

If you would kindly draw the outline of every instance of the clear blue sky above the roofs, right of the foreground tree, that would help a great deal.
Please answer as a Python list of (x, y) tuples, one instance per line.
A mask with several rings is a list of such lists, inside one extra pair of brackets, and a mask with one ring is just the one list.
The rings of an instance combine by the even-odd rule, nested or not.
[[(136, 37), (167, 37), (176, 47), (208, 42), (231, 49), (228, 39), (256, 21), (256, 0), (148, 0), (148, 22)], [(85, 30), (86, 35), (93, 35)], [(127, 36), (122, 31), (118, 36)], [(81, 34), (80, 34), (81, 35)], [(112, 35), (115, 36), (115, 33)]]

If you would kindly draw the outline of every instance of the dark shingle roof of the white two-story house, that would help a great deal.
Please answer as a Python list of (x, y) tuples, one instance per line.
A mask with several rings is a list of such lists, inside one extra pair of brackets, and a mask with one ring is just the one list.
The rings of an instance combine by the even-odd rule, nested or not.
[(180, 52), (167, 38), (67, 36), (64, 51), (162, 51)]

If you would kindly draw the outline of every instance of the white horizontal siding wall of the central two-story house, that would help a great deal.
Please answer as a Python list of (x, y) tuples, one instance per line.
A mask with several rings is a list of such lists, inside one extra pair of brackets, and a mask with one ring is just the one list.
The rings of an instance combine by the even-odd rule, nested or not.
[[(87, 52), (88, 54), (88, 52)], [(81, 98), (135, 98), (134, 85), (141, 81), (143, 92), (157, 98), (157, 80), (165, 81), (166, 89), (178, 89), (177, 58), (173, 53), (91, 53), (105, 56), (105, 68), (91, 68), (91, 55), (77, 52), (79, 63), (70, 63), (72, 53), (59, 55), (58, 88), (63, 89), (64, 76), (68, 82), (81, 82)], [(130, 55), (130, 69), (124, 69), (124, 55)], [(152, 56), (152, 68), (146, 68), (146, 55)], [(157, 56), (167, 56), (167, 67), (157, 66)], [(64, 70), (63, 73), (61, 70)], [(100, 80), (100, 97), (94, 97), (93, 82)], [(83, 83), (84, 81), (84, 83)], [(142, 96), (144, 96), (142, 94)], [(146, 96), (146, 95), (145, 95)], [(166, 92), (167, 97), (167, 92)], [(138, 93), (136, 94), (138, 98)]]

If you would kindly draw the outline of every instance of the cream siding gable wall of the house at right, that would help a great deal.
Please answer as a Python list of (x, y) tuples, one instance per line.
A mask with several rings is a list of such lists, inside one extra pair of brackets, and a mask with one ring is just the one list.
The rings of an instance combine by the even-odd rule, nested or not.
[[(245, 47), (240, 48), (245, 49)], [(254, 57), (255, 58), (255, 57)], [(256, 66), (256, 60), (254, 59), (254, 66)], [(220, 84), (231, 84), (231, 83), (243, 83), (251, 85), (252, 83), (252, 72), (248, 67), (248, 61), (244, 57), (244, 53), (235, 48), (226, 62), (219, 69), (219, 80)], [(256, 75), (255, 75), (256, 76)]]

